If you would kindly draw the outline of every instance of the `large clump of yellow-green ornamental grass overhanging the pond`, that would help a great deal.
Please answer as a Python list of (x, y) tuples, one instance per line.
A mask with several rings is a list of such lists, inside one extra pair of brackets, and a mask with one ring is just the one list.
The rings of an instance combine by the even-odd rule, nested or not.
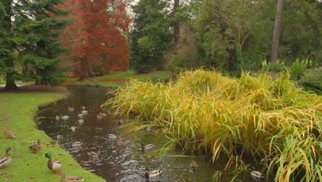
[(162, 128), (183, 152), (253, 159), (275, 181), (322, 178), (322, 99), (288, 74), (233, 79), (195, 70), (169, 83), (131, 80), (114, 94), (105, 106)]

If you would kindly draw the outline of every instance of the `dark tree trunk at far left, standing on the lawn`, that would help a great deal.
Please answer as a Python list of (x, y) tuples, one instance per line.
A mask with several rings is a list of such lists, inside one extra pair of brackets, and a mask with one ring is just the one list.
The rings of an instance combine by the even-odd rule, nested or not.
[[(5, 28), (5, 31), (8, 32), (8, 35), (10, 36), (11, 31), (12, 31), (12, 22), (11, 22), (11, 3), (12, 0), (7, 0), (3, 2), (4, 8), (6, 10), (6, 13), (9, 16), (5, 16), (3, 19), (3, 27)], [(7, 42), (10, 46), (9, 48), (12, 48), (12, 43)], [(13, 50), (12, 50), (13, 52)], [(8, 56), (6, 61), (6, 68), (9, 68), (8, 71), (6, 71), (6, 87), (4, 88), (5, 90), (17, 90), (18, 87), (16, 83), (14, 83), (14, 57), (13, 54)]]

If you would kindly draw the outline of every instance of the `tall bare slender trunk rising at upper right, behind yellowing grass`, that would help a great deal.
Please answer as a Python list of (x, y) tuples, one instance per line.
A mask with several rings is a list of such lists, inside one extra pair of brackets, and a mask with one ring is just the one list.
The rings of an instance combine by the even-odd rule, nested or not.
[(279, 33), (281, 32), (281, 18), (283, 13), (284, 0), (277, 1), (277, 14), (275, 17), (274, 33), (272, 38), (272, 51), (270, 52), (271, 63), (277, 61), (277, 50), (279, 49)]

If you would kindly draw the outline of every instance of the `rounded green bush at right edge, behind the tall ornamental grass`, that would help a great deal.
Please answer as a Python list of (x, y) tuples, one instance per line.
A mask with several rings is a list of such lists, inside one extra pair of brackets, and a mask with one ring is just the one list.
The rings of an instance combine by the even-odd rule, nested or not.
[(322, 67), (308, 70), (299, 81), (305, 90), (313, 90), (321, 94), (322, 92)]

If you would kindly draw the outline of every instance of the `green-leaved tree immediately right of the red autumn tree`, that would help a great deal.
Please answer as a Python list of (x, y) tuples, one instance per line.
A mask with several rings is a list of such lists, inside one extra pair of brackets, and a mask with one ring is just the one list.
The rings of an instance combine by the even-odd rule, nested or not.
[(172, 47), (173, 34), (166, 19), (167, 2), (140, 0), (132, 6), (135, 17), (131, 31), (131, 68), (136, 72), (160, 70), (164, 54)]

